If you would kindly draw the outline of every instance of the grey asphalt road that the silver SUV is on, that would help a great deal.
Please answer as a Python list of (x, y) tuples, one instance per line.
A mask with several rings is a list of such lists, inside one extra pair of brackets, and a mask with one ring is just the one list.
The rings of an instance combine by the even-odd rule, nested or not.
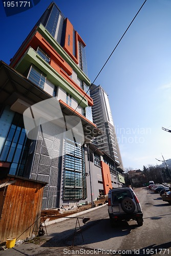
[(141, 227), (136, 221), (111, 227), (108, 206), (103, 206), (82, 215), (91, 218), (86, 225), (78, 219), (82, 232), (76, 228), (75, 237), (79, 223), (69, 219), (47, 226), (48, 236), (40, 244), (22, 244), (0, 255), (171, 255), (171, 205), (146, 188), (136, 188), (135, 193), (143, 210)]

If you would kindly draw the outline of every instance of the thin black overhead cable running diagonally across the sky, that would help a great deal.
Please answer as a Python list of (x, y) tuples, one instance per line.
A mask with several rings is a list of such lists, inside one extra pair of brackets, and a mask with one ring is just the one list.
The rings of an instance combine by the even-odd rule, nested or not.
[(87, 93), (90, 91), (90, 88), (92, 87), (93, 83), (96, 81), (97, 77), (100, 75), (101, 71), (103, 70), (103, 68), (105, 67), (106, 63), (109, 61), (109, 59), (111, 58), (112, 54), (114, 53), (114, 51), (116, 50), (116, 48), (118, 47), (118, 45), (120, 44), (120, 41), (122, 40), (122, 38), (124, 37), (124, 35), (126, 34), (127, 30), (129, 30), (129, 28), (131, 27), (132, 23), (134, 22), (134, 19), (137, 17), (138, 13), (141, 11), (142, 7), (144, 6), (145, 2), (147, 0), (144, 1), (144, 3), (142, 4), (142, 6), (140, 7), (140, 9), (138, 10), (138, 12), (136, 13), (136, 15), (134, 16), (134, 18), (132, 19), (132, 22), (130, 23), (130, 25), (127, 27), (127, 29), (125, 30), (125, 32), (123, 33), (123, 35), (121, 36), (120, 40), (118, 41), (117, 45), (115, 46), (115, 48), (113, 49), (112, 53), (110, 54), (110, 56), (108, 57), (108, 59), (105, 61), (103, 67), (101, 68), (101, 70), (99, 71), (99, 73), (97, 74), (96, 78), (94, 79), (94, 81), (91, 83), (91, 86), (89, 87), (89, 89), (87, 90), (87, 92), (84, 94), (84, 96), (82, 97), (82, 99), (80, 100), (80, 102), (78, 103), (76, 109), (74, 110), (74, 112), (72, 113), (72, 115), (75, 113), (75, 111), (77, 110), (78, 106), (80, 105), (80, 103), (82, 102), (82, 100), (84, 99), (84, 97), (87, 95)]

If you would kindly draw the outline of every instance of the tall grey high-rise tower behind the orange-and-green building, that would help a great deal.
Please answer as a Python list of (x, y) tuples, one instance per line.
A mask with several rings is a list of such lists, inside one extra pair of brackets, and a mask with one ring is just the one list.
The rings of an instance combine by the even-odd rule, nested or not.
[(90, 95), (93, 99), (93, 122), (102, 131), (94, 142), (100, 151), (109, 154), (119, 164), (119, 168), (123, 169), (108, 94), (100, 85), (93, 84)]

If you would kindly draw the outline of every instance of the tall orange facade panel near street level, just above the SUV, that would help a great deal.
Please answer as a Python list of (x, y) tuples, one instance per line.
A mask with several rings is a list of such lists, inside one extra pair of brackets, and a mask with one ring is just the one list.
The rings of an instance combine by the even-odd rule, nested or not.
[(107, 195), (109, 190), (112, 188), (111, 174), (109, 165), (101, 161), (101, 172), (103, 179), (104, 195)]

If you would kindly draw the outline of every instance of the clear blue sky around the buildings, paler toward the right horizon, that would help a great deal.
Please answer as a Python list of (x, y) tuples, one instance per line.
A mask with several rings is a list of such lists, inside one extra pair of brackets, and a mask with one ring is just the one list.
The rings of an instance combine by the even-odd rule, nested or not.
[[(52, 1), (6, 17), (0, 3), (0, 59), (9, 63)], [(86, 42), (93, 82), (144, 0), (56, 0)], [(171, 158), (171, 1), (147, 0), (95, 81), (109, 94), (123, 166)]]

